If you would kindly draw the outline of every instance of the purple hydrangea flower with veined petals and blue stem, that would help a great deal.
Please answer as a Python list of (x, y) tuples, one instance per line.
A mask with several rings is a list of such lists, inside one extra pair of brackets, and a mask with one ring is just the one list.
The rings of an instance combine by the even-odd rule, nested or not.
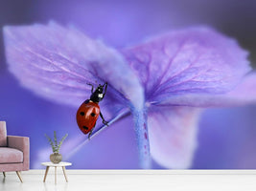
[[(10, 71), (38, 96), (79, 107), (90, 95), (87, 83), (107, 81), (101, 110), (110, 123), (132, 114), (142, 168), (151, 167), (151, 158), (168, 168), (188, 168), (200, 108), (256, 100), (247, 53), (206, 27), (169, 32), (121, 51), (56, 23), (5, 27), (4, 35)], [(105, 126), (97, 128), (92, 138)]]

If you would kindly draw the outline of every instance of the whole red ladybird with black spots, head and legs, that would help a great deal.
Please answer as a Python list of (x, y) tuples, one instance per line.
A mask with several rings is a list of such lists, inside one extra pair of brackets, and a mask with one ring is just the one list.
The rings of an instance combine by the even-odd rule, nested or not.
[(99, 116), (102, 117), (103, 123), (108, 125), (99, 106), (99, 102), (105, 97), (107, 82), (104, 85), (99, 84), (95, 91), (93, 91), (94, 87), (92, 84), (88, 85), (92, 87), (91, 96), (81, 103), (77, 112), (77, 123), (81, 132), (85, 135), (89, 133), (88, 138), (90, 138)]

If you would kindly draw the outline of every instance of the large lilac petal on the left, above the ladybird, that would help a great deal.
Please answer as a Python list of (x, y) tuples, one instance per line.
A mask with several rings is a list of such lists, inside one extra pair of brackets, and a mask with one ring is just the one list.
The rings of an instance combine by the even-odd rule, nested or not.
[[(39, 96), (78, 106), (90, 86), (105, 81), (114, 103), (129, 99), (142, 107), (143, 89), (123, 56), (73, 28), (56, 23), (5, 27), (10, 71)], [(98, 84), (97, 84), (98, 85)]]

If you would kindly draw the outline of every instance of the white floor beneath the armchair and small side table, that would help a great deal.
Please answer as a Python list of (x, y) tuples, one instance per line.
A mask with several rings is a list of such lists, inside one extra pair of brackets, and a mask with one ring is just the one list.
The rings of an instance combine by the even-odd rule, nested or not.
[(67, 179), (54, 169), (44, 179), (44, 170), (22, 172), (23, 183), (15, 172), (0, 174), (1, 191), (94, 191), (94, 190), (178, 190), (178, 191), (255, 191), (256, 171), (108, 171), (67, 170)]

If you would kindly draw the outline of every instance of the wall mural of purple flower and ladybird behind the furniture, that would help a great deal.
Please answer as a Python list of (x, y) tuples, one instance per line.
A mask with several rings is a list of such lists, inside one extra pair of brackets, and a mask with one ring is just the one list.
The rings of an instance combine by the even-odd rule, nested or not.
[(0, 120), (31, 168), (255, 168), (256, 27), (229, 3), (2, 3)]

